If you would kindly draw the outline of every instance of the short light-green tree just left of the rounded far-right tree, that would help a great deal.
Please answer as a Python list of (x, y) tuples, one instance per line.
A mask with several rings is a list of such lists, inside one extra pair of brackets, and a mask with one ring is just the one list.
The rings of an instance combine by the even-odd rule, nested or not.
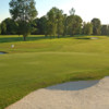
[(84, 35), (92, 35), (93, 34), (93, 25), (92, 23), (85, 23), (83, 24), (83, 34)]

